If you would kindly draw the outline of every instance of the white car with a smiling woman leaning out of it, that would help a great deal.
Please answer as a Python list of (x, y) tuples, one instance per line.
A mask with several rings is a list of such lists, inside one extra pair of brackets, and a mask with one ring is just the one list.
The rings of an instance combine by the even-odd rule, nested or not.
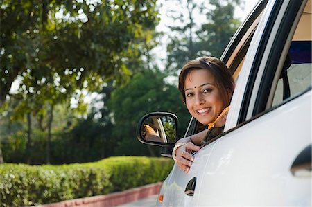
[[(311, 0), (259, 1), (221, 57), (236, 80), (224, 132), (193, 154), (189, 173), (173, 166), (157, 206), (311, 206), (311, 15)], [(174, 138), (144, 138), (151, 117)], [(170, 156), (176, 121), (144, 116), (139, 141)], [(205, 127), (192, 118), (185, 136)]]

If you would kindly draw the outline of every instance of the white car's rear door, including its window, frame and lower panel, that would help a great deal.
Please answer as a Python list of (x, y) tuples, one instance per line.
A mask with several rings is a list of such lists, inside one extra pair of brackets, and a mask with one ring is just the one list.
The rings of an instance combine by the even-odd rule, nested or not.
[[(198, 206), (311, 206), (312, 37), (306, 2), (268, 2), (239, 75), (226, 132), (211, 143), (205, 179), (194, 192)], [(302, 156), (306, 163), (295, 168)]]

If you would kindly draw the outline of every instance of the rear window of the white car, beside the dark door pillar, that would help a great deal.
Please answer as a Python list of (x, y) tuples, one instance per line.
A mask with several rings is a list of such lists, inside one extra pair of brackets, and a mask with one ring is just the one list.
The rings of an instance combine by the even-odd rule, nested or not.
[(289, 1), (282, 15), (267, 60), (262, 60), (265, 66), (252, 91), (247, 121), (311, 89), (311, 0)]

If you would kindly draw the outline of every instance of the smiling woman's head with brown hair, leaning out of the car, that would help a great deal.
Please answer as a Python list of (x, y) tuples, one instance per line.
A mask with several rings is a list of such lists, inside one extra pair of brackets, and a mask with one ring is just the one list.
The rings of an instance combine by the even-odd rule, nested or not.
[[(179, 90), (190, 114), (208, 125), (229, 105), (234, 80), (223, 62), (215, 57), (200, 57), (183, 66)], [(209, 116), (204, 116), (208, 112)]]

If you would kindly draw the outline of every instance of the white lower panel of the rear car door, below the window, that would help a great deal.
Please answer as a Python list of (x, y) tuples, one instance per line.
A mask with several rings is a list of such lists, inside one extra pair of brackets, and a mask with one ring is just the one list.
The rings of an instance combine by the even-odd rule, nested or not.
[(205, 168), (206, 196), (198, 206), (311, 206), (311, 172), (295, 177), (290, 170), (311, 145), (306, 129), (311, 91), (220, 138)]

